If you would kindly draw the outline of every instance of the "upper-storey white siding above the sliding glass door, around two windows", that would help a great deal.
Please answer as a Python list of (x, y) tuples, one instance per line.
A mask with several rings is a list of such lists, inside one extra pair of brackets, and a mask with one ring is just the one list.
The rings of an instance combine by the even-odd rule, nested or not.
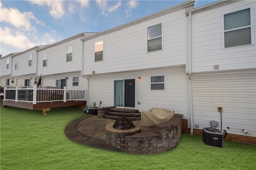
[[(185, 10), (143, 21), (84, 41), (84, 74), (185, 64)], [(163, 50), (147, 53), (147, 27), (163, 23)], [(104, 61), (94, 62), (94, 43), (104, 40)]]

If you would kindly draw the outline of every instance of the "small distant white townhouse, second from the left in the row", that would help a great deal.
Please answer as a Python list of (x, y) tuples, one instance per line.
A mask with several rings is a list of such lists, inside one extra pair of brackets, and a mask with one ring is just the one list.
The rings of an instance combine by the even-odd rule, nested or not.
[(36, 50), (45, 46), (36, 46), (12, 55), (11, 78), (16, 80), (16, 84), (12, 84), (13, 86), (34, 86), (37, 83), (38, 56)]

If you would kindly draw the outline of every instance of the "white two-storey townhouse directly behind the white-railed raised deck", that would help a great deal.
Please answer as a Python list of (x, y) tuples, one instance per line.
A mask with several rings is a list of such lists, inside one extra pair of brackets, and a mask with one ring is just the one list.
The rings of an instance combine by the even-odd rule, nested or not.
[(82, 77), (82, 41), (94, 33), (80, 33), (47, 47), (38, 49), (37, 76), (42, 87), (58, 86), (85, 89), (87, 79)]

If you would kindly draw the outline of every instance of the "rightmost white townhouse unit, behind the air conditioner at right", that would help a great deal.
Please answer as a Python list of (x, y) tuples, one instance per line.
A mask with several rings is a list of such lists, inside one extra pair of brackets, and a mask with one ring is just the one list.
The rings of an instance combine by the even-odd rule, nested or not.
[(215, 120), (228, 133), (256, 137), (256, 2), (220, 1), (186, 14), (192, 125), (202, 129)]

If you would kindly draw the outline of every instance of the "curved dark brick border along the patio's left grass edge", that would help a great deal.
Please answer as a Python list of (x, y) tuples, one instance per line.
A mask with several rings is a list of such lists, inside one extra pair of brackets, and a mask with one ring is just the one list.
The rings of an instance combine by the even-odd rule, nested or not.
[(118, 148), (113, 147), (110, 144), (106, 143), (105, 140), (97, 139), (94, 137), (84, 135), (77, 129), (77, 126), (80, 122), (84, 121), (85, 119), (88, 119), (91, 116), (93, 116), (93, 115), (86, 115), (84, 117), (76, 119), (75, 121), (70, 122), (64, 130), (66, 137), (68, 137), (68, 139), (70, 139), (76, 143), (80, 143), (82, 145), (86, 145), (89, 147), (124, 152), (124, 150), (118, 149)]

